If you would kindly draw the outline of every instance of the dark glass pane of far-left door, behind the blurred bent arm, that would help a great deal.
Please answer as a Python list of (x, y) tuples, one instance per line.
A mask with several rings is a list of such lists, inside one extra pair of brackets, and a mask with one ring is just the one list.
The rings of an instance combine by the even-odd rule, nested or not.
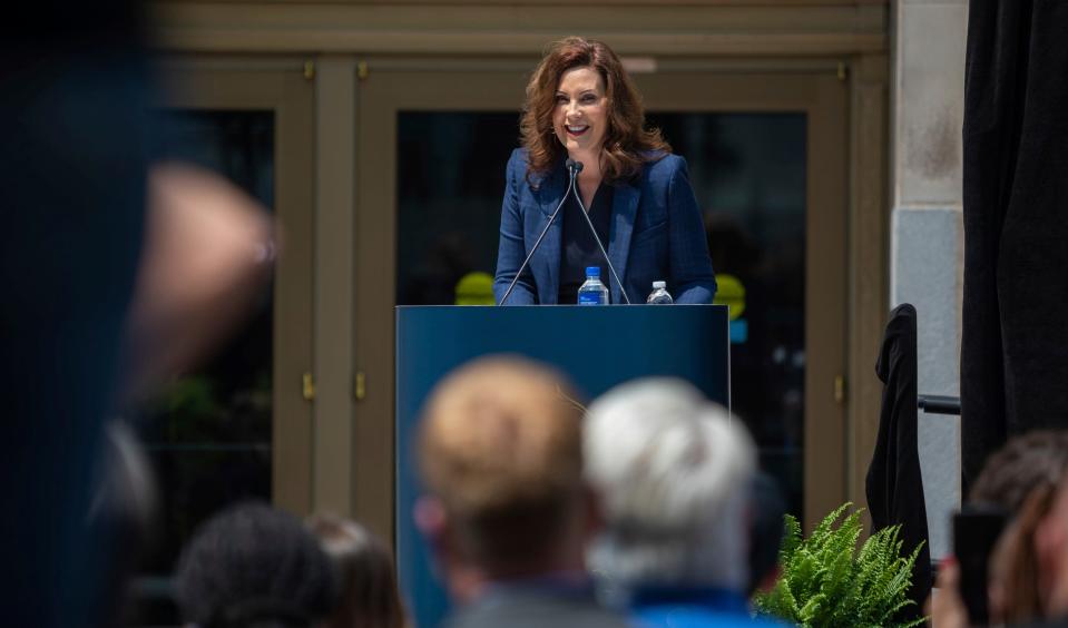
[[(163, 157), (215, 170), (272, 207), (273, 112), (159, 117)], [(196, 526), (217, 510), (242, 499), (271, 499), (272, 305), (268, 290), (210, 363), (172, 382), (138, 411), (135, 429), (160, 495), (159, 536), (143, 565), (148, 576), (169, 575)], [(158, 600), (139, 600), (138, 620), (175, 622), (169, 602), (159, 604), (166, 593), (163, 587)]]

